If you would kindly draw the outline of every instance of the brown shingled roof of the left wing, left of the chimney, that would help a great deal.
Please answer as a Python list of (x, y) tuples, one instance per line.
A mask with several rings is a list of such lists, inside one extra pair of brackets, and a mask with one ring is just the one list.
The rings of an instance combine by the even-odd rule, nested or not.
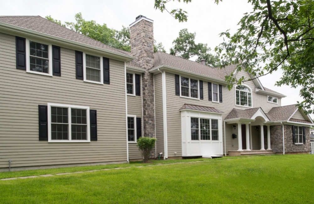
[(0, 16), (0, 22), (131, 56), (127, 51), (107, 46), (41, 16)]

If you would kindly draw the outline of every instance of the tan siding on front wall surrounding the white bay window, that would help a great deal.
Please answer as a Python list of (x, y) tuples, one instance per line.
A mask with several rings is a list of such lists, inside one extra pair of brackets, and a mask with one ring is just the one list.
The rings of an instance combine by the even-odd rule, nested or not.
[[(249, 77), (247, 72), (238, 73), (238, 77)], [(189, 75), (182, 75), (184, 77), (198, 79), (190, 77)], [(161, 79), (160, 79), (161, 81)], [(216, 83), (210, 81), (211, 83)], [(219, 83), (216, 83), (219, 84)], [(257, 94), (255, 92), (255, 84), (253, 81), (245, 82), (245, 85), (252, 89), (252, 108), (262, 107), (264, 112), (268, 112), (272, 107), (280, 106), (280, 98), (278, 98), (278, 104), (268, 103), (267, 95)], [(175, 74), (166, 72), (166, 90), (167, 90), (167, 137), (168, 137), (168, 157), (181, 156), (181, 113), (179, 109), (185, 104), (201, 105), (216, 108), (223, 111), (222, 120), (230, 113), (233, 108), (246, 109), (248, 107), (236, 105), (236, 91), (233, 87), (230, 91), (226, 86), (222, 86), (222, 103), (208, 101), (208, 81), (203, 81), (203, 100), (187, 99), (177, 96), (175, 93)], [(222, 123), (222, 130), (224, 131), (224, 122)], [(226, 149), (238, 150), (238, 137), (232, 139), (232, 133), (238, 135), (237, 129), (233, 130), (232, 124), (226, 126)], [(223, 132), (224, 138), (224, 132)], [(223, 142), (223, 146), (224, 146)], [(224, 146), (225, 148), (225, 146)], [(174, 153), (177, 152), (175, 155)], [(225, 152), (225, 149), (224, 149)], [(228, 154), (228, 151), (226, 151)]]

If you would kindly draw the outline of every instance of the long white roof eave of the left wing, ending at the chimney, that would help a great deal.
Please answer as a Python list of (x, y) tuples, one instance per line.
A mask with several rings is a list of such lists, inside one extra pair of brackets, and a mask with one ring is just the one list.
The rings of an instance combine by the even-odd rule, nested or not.
[(90, 45), (87, 45), (87, 44), (84, 44), (84, 43), (75, 42), (73, 40), (67, 40), (67, 39), (60, 38), (60, 37), (57, 37), (57, 36), (54, 36), (54, 35), (41, 33), (41, 32), (38, 32), (38, 31), (22, 28), (22, 27), (19, 27), (19, 26), (11, 25), (11, 24), (6, 24), (6, 23), (3, 23), (3, 22), (0, 22), (0, 30), (1, 29), (8, 30), (10, 32), (17, 33), (17, 34), (24, 34), (24, 35), (26, 34), (28, 36), (42, 37), (42, 38), (45, 38), (45, 39), (49, 39), (51, 41), (55, 41), (58, 44), (60, 44), (60, 42), (62, 42), (62, 44), (71, 45), (71, 46), (74, 46), (74, 47), (77, 47), (77, 48), (84, 47), (84, 49), (86, 49), (86, 50), (103, 52), (103, 53), (106, 53), (106, 55), (108, 55), (108, 56), (114, 56), (116, 58), (122, 59), (125, 62), (130, 62), (133, 59), (135, 59), (135, 57), (129, 56), (129, 55), (126, 55), (126, 54), (122, 54), (122, 53), (106, 50), (106, 49), (95, 47), (95, 46), (90, 46)]

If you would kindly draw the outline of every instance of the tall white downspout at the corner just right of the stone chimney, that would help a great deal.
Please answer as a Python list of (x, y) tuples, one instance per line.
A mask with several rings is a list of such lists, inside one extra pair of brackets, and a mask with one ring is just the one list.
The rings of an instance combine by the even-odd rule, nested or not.
[(165, 156), (164, 159), (168, 158), (168, 139), (167, 139), (167, 106), (166, 106), (166, 84), (165, 84), (165, 72), (160, 71), (157, 69), (158, 72), (161, 73), (162, 78), (162, 109), (163, 109), (163, 126), (164, 126), (164, 152)]

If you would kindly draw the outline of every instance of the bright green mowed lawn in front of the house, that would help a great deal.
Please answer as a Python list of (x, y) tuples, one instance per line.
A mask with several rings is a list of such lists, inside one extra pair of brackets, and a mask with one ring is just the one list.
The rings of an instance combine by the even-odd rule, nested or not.
[[(187, 163), (189, 161), (200, 159), (154, 161), (148, 165), (185, 163), (143, 168), (136, 167), (143, 164), (119, 164), (130, 168), (0, 180), (0, 203), (314, 202), (314, 155), (225, 157)], [(88, 170), (109, 167), (93, 166)], [(87, 167), (62, 169), (84, 168)], [(46, 169), (39, 173), (43, 171), (54, 174), (63, 170)], [(0, 174), (8, 177), (7, 173), (10, 177), (21, 174)]]

